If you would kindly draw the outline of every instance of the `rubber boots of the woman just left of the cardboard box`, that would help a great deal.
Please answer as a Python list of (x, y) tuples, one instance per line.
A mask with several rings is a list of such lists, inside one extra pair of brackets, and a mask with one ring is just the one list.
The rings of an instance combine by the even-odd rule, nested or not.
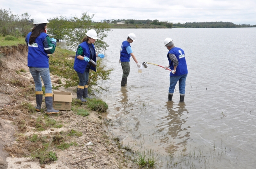
[[(43, 102), (43, 91), (36, 91), (36, 111), (40, 112)], [(59, 110), (53, 108), (52, 93), (45, 93), (45, 105), (47, 114), (58, 114)]]

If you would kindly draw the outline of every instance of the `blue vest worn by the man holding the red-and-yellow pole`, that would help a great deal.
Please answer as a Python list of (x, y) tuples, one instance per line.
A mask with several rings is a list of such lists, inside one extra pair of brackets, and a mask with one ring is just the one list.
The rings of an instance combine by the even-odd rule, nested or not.
[(171, 59), (168, 56), (169, 53), (174, 54), (179, 61), (179, 65), (176, 68), (176, 72), (174, 74), (172, 74), (172, 72), (170, 72), (170, 76), (179, 76), (179, 75), (188, 74), (188, 68), (187, 68), (184, 50), (182, 50), (181, 48), (176, 48), (176, 47), (169, 50), (167, 57), (168, 57), (170, 69), (173, 70), (174, 66), (173, 66)]

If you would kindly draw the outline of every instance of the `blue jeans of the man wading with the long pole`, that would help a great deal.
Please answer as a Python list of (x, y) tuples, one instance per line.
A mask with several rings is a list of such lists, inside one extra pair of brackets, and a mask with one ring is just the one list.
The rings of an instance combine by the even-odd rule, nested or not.
[(179, 81), (179, 93), (181, 95), (185, 95), (185, 86), (186, 86), (187, 75), (188, 74), (179, 75), (179, 76), (170, 76), (169, 94), (174, 93), (174, 89), (177, 84), (177, 81)]

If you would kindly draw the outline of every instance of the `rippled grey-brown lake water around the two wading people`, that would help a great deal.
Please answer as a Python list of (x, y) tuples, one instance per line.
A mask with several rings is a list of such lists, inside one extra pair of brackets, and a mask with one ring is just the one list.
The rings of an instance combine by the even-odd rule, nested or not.
[[(140, 64), (168, 65), (163, 41), (172, 38), (188, 65), (184, 103), (177, 84), (168, 101), (169, 74), (131, 58), (127, 86), (118, 63), (122, 41)], [(254, 169), (256, 165), (256, 28), (113, 29), (104, 63), (113, 68), (98, 94), (109, 105), (109, 130), (133, 150), (154, 150), (159, 168)]]

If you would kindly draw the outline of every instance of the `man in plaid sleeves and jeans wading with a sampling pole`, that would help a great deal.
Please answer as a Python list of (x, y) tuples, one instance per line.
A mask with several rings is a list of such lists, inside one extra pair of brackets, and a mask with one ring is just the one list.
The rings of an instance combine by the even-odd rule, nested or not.
[(169, 61), (169, 65), (165, 66), (164, 69), (170, 67), (172, 70), (170, 72), (170, 87), (169, 87), (169, 95), (168, 100), (172, 100), (172, 95), (174, 93), (174, 88), (179, 81), (179, 101), (184, 101), (185, 97), (185, 86), (186, 86), (186, 78), (188, 75), (188, 68), (185, 59), (184, 50), (181, 48), (177, 48), (174, 46), (171, 38), (166, 38), (164, 40), (164, 45), (169, 50), (167, 57)]

